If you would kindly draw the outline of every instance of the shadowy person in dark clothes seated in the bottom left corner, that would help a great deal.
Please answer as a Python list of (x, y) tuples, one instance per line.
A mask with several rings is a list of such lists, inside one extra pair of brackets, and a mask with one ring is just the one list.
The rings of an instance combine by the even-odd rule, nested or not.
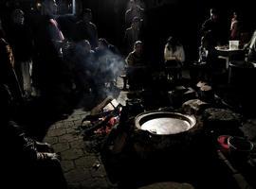
[(12, 180), (6, 183), (9, 188), (67, 188), (58, 155), (48, 144), (27, 136), (25, 130), (11, 120), (13, 103), (9, 87), (0, 84), (2, 160), (8, 164), (3, 166), (4, 181)]

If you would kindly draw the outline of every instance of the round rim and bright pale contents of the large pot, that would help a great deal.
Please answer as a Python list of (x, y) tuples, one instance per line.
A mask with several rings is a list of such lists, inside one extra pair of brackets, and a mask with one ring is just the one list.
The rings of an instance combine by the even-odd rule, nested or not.
[(157, 135), (170, 135), (192, 129), (195, 118), (176, 112), (144, 112), (136, 117), (137, 129)]

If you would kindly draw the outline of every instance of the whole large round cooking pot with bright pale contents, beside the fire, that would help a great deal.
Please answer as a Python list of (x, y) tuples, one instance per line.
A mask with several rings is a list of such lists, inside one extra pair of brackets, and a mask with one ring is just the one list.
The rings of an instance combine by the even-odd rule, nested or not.
[(141, 156), (156, 151), (190, 148), (200, 124), (192, 115), (178, 112), (143, 112), (135, 118), (134, 144)]

